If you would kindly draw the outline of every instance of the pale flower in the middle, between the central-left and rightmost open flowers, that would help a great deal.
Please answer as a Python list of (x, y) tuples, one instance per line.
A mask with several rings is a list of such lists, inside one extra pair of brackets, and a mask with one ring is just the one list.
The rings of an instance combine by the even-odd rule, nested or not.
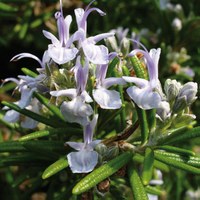
[(118, 109), (122, 105), (119, 92), (108, 90), (112, 85), (125, 84), (122, 78), (106, 78), (108, 65), (98, 65), (96, 68), (96, 89), (93, 89), (94, 100), (103, 109)]

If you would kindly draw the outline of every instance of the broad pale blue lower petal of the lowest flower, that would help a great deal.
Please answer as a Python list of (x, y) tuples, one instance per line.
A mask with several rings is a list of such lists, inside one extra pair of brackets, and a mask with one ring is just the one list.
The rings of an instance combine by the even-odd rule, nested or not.
[(96, 166), (98, 153), (96, 151), (72, 152), (67, 155), (67, 159), (73, 173), (88, 173)]

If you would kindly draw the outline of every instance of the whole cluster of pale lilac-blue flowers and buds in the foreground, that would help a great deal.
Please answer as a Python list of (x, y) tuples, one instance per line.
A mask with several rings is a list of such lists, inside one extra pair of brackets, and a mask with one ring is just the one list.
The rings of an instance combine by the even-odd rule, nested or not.
[[(88, 37), (87, 19), (91, 12), (105, 15), (99, 8), (90, 8), (92, 2), (85, 10), (75, 9), (77, 30), (70, 34), (72, 16), (67, 15), (64, 18), (62, 2), (60, 3), (61, 10), (55, 14), (58, 38), (48, 31), (43, 31), (44, 36), (51, 42), (42, 60), (29, 53), (18, 54), (12, 59), (14, 61), (28, 57), (36, 60), (40, 64), (40, 68), (37, 68), (38, 74), (18, 76), (19, 79), (8, 78), (5, 82), (14, 81), (17, 84), (16, 90), (21, 93), (21, 98), (15, 104), (21, 109), (27, 108), (40, 113), (42, 105), (34, 97), (34, 93), (39, 92), (49, 95), (51, 101), (55, 101), (66, 122), (82, 126), (84, 142), (66, 142), (77, 150), (69, 153), (67, 158), (73, 173), (87, 173), (98, 163), (95, 146), (101, 140), (93, 140), (98, 110), (114, 110), (123, 105), (121, 95), (124, 95), (124, 92), (120, 93), (116, 85), (126, 88), (131, 101), (140, 109), (156, 109), (157, 117), (165, 121), (169, 115), (181, 112), (196, 99), (197, 84), (190, 82), (181, 86), (168, 80), (164, 89), (165, 95), (158, 79), (160, 48), (148, 51), (138, 40), (126, 38), (128, 30), (122, 29)], [(98, 44), (103, 40), (112, 46), (112, 52), (109, 52), (107, 46)], [(136, 48), (129, 52), (132, 44)], [(139, 46), (142, 46), (142, 49)], [(142, 63), (147, 78), (136, 77), (131, 73), (123, 74), (121, 69), (118, 69), (115, 76), (114, 73), (108, 74), (113, 59), (121, 57), (126, 60), (127, 70), (130, 72), (132, 69), (129, 66), (129, 58), (138, 55), (142, 55), (139, 62)], [(20, 114), (9, 110), (4, 120), (17, 122), (20, 120)], [(35, 128), (37, 122), (33, 119), (23, 119), (21, 126)]]

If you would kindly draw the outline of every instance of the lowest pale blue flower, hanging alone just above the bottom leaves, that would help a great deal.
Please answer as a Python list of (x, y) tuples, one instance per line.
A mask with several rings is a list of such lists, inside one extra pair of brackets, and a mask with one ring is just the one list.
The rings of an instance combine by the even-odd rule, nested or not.
[(97, 165), (98, 153), (94, 151), (94, 147), (101, 142), (101, 140), (93, 141), (97, 118), (98, 115), (95, 115), (93, 120), (84, 126), (84, 143), (66, 142), (66, 144), (78, 151), (67, 155), (69, 166), (73, 173), (88, 173)]

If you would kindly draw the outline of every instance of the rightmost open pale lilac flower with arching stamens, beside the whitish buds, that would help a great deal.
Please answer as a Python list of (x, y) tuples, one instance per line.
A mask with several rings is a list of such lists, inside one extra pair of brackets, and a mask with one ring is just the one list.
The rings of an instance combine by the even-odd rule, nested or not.
[(139, 52), (142, 53), (146, 59), (149, 80), (128, 76), (123, 76), (122, 78), (127, 82), (135, 84), (135, 86), (131, 86), (127, 89), (127, 93), (140, 108), (145, 110), (157, 108), (163, 98), (160, 82), (158, 80), (158, 61), (161, 49), (151, 49), (149, 53), (146, 49), (135, 49), (130, 53), (130, 56), (136, 55)]

